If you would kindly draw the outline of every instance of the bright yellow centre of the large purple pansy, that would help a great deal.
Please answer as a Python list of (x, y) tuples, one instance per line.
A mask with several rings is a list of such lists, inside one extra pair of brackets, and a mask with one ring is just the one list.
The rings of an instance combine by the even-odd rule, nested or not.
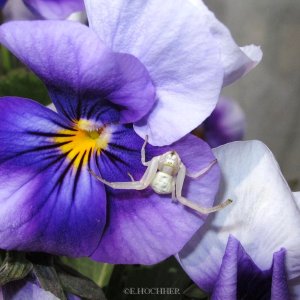
[(81, 119), (75, 122), (73, 130), (63, 129), (57, 132), (54, 142), (60, 144), (62, 153), (67, 154), (73, 166), (85, 166), (94, 152), (100, 154), (110, 141), (109, 126), (99, 127), (92, 121)]

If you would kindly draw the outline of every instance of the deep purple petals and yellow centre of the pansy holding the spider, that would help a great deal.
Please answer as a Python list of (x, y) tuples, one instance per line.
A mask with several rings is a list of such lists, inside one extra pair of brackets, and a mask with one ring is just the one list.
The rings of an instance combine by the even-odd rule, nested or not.
[[(58, 112), (0, 100), (0, 248), (143, 264), (178, 252), (204, 218), (151, 189), (104, 187), (88, 171), (109, 181), (145, 171), (144, 140), (132, 123), (151, 110), (155, 89), (140, 61), (69, 21), (9, 22), (0, 41), (44, 81)], [(148, 145), (147, 159), (169, 149), (192, 173), (215, 159), (191, 135), (169, 147)], [(184, 195), (211, 206), (218, 180), (214, 165), (187, 179)]]

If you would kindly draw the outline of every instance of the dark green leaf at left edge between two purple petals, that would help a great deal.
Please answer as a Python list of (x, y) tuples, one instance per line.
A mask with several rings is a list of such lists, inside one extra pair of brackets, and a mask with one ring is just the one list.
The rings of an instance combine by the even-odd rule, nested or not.
[(0, 77), (0, 97), (29, 98), (47, 105), (51, 103), (43, 82), (32, 72), (18, 68)]

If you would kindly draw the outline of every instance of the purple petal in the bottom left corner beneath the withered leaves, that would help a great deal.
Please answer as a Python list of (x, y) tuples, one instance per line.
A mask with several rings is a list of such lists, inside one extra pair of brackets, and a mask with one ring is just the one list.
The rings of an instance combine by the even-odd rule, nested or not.
[[(1, 289), (1, 288), (0, 288)], [(1, 295), (1, 294), (0, 294)], [(0, 297), (1, 298), (1, 297)], [(12, 281), (2, 286), (1, 300), (59, 300), (27, 279)]]

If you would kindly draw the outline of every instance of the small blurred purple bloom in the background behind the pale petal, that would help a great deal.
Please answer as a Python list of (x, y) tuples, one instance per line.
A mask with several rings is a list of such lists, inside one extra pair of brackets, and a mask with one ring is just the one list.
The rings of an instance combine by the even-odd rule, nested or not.
[(204, 137), (211, 147), (217, 147), (241, 140), (245, 127), (245, 114), (238, 103), (221, 97), (215, 110), (203, 123)]

